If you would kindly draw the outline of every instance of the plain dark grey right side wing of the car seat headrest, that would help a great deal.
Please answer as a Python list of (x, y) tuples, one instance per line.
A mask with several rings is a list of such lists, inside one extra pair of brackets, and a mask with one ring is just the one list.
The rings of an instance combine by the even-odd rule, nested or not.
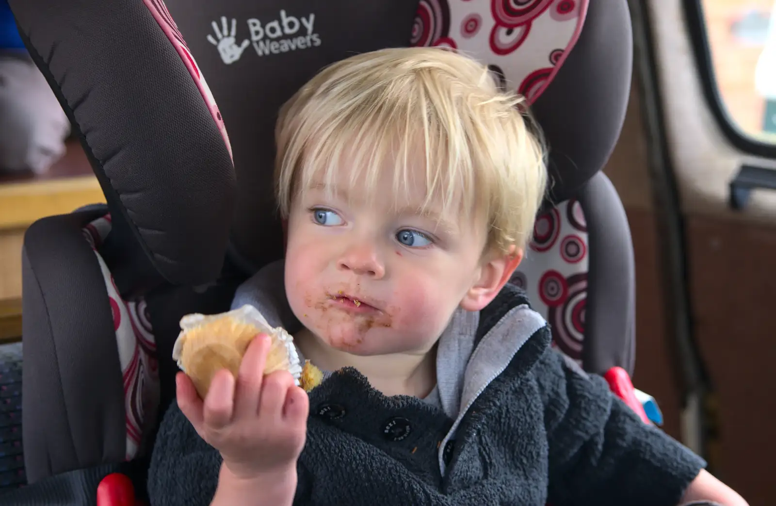
[(552, 202), (576, 196), (617, 144), (630, 96), (628, 3), (591, 0), (577, 44), (532, 109), (549, 140)]

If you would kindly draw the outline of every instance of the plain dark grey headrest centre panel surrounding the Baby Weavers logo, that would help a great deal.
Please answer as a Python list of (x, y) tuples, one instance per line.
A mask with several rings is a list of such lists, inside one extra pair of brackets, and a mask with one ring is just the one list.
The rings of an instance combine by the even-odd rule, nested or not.
[[(275, 158), (273, 136), (277, 112), (320, 68), (355, 52), (383, 47), (407, 46), (418, 0), (379, 2), (325, 2), (324, 0), (233, 0), (199, 2), (167, 0), (186, 43), (207, 76), (218, 101), (234, 148), (237, 199), (231, 240), (251, 273), (282, 256), (282, 233), (272, 196), (272, 168)], [(320, 46), (286, 54), (259, 57), (248, 46), (240, 60), (224, 64), (206, 39), (213, 34), (211, 23), (220, 26), (221, 16), (237, 20), (237, 43), (249, 40), (246, 20), (259, 23), (287, 16), (314, 15), (314, 33)], [(303, 29), (303, 28), (302, 28)]]

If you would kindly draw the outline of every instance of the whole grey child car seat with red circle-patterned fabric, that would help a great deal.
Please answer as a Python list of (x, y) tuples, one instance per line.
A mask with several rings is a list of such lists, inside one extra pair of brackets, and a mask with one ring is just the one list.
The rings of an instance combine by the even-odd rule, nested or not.
[(107, 202), (26, 233), (22, 420), (33, 485), (9, 504), (93, 504), (115, 470), (142, 490), (175, 395), (180, 317), (227, 310), (241, 281), (282, 256), (271, 183), (279, 106), (353, 52), (449, 47), (528, 97), (552, 187), (512, 281), (552, 324), (559, 351), (632, 400), (632, 244), (601, 173), (629, 98), (626, 0), (9, 3)]

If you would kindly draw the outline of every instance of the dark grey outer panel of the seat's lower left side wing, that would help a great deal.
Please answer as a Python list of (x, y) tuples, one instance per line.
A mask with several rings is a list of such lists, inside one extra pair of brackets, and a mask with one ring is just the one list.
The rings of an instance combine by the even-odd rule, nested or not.
[(23, 444), (30, 483), (120, 462), (123, 383), (105, 281), (81, 227), (100, 211), (44, 218), (23, 253)]

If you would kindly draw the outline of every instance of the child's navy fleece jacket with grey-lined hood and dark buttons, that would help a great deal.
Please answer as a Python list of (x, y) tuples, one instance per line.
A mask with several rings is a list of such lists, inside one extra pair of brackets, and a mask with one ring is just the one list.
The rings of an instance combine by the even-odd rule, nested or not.
[[(238, 290), (272, 325), (299, 322), (282, 264)], [(542, 317), (506, 286), (456, 312), (438, 344), (438, 387), (386, 397), (355, 369), (310, 392), (295, 505), (674, 506), (705, 463), (644, 425), (603, 379), (550, 347)], [(205, 506), (221, 459), (173, 404), (148, 479), (152, 506)]]

